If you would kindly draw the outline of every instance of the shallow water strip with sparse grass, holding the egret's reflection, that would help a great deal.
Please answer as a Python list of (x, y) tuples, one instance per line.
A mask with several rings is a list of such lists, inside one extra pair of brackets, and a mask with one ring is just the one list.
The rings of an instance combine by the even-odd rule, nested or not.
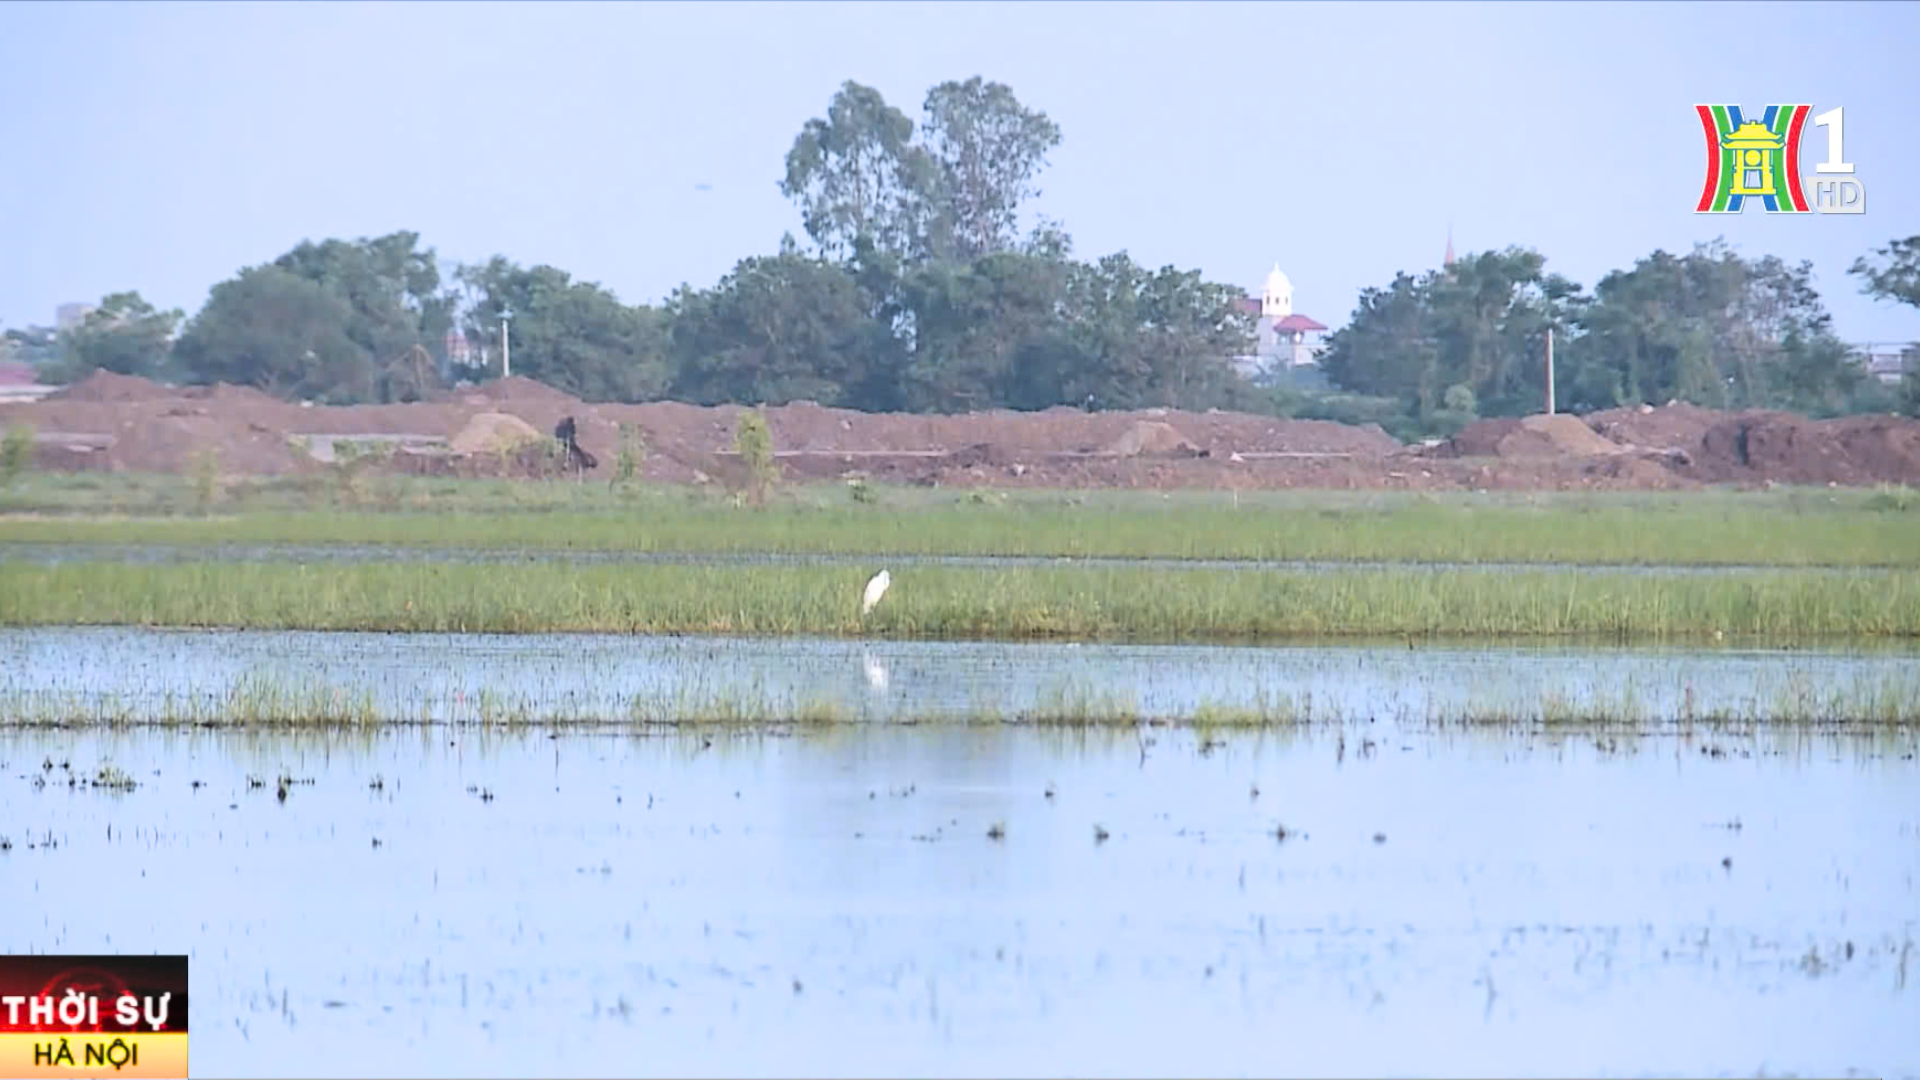
[(1910, 644), (1121, 646), (0, 628), (0, 721), (1920, 719)]

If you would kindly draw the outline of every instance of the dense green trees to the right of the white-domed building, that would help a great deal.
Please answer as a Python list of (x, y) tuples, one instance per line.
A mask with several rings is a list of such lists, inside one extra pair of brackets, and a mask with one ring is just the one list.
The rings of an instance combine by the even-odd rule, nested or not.
[[(1916, 254), (1920, 244), (1897, 242), (1853, 273), (1866, 292), (1914, 304)], [(1551, 329), (1555, 405), (1565, 411), (1668, 400), (1812, 415), (1912, 409), (1920, 380), (1889, 390), (1868, 377), (1811, 281), (1811, 263), (1745, 259), (1713, 242), (1684, 256), (1653, 252), (1586, 294), (1548, 273), (1538, 252), (1484, 252), (1361, 292), (1321, 369), (1334, 386), (1386, 400), (1427, 427), (1457, 427), (1544, 407)]]

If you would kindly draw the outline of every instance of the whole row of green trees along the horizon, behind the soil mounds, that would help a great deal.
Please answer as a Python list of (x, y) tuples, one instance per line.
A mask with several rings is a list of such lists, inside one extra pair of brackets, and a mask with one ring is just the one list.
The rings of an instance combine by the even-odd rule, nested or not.
[[(1021, 233), (1060, 129), (979, 77), (935, 86), (916, 125), (845, 83), (785, 158), (781, 190), (806, 250), (739, 261), (710, 288), (628, 306), (566, 271), (507, 258), (442, 273), (415, 233), (303, 242), (159, 311), (106, 296), (84, 323), (10, 331), (44, 380), (106, 369), (238, 382), (284, 398), (403, 402), (447, 379), (513, 371), (588, 400), (697, 404), (816, 400), (870, 411), (979, 407), (1240, 407), (1379, 419), (1398, 434), (1544, 402), (1548, 332), (1561, 409), (1690, 400), (1809, 413), (1905, 407), (1841, 344), (1807, 263), (1749, 259), (1722, 242), (1655, 252), (1592, 294), (1509, 248), (1361, 294), (1313, 379), (1254, 384), (1242, 290), (1200, 273), (1073, 258), (1060, 223)], [(1862, 258), (1866, 292), (1920, 306), (1920, 236)], [(447, 331), (476, 350), (461, 369)]]

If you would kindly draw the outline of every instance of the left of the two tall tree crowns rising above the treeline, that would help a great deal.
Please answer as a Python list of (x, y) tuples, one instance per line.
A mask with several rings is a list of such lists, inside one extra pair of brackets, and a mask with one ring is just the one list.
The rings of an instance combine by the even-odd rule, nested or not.
[(801, 204), (801, 223), (824, 254), (851, 256), (866, 238), (904, 256), (925, 242), (935, 169), (912, 138), (914, 121), (854, 81), (841, 85), (824, 119), (806, 121), (780, 190)]

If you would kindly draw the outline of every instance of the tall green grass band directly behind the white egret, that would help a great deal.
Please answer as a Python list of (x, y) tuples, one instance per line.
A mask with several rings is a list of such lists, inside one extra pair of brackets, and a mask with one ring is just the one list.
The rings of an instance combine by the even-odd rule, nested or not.
[(1920, 636), (1920, 573), (0, 563), (0, 625), (947, 640)]

